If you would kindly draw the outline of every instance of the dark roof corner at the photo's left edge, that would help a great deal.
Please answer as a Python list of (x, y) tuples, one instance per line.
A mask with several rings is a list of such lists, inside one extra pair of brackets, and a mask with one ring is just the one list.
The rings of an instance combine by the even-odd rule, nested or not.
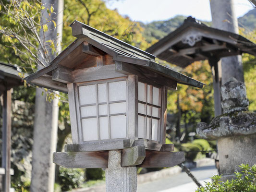
[(0, 95), (4, 90), (22, 84), (17, 68), (13, 65), (0, 62)]

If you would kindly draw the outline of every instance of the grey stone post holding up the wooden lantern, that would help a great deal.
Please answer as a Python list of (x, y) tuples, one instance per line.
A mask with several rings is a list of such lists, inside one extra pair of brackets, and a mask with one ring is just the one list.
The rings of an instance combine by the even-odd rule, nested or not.
[(121, 151), (110, 151), (106, 168), (106, 192), (136, 192), (137, 168), (121, 167)]

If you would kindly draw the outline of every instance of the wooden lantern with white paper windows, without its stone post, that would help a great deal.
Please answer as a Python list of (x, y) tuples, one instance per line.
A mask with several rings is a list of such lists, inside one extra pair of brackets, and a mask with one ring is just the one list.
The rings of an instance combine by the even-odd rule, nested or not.
[(54, 163), (108, 168), (110, 150), (122, 150), (122, 167), (183, 162), (184, 153), (170, 152), (173, 144), (165, 144), (167, 90), (176, 90), (177, 83), (203, 84), (88, 25), (74, 21), (71, 27), (77, 39), (26, 78), (68, 93), (73, 144), (54, 153)]

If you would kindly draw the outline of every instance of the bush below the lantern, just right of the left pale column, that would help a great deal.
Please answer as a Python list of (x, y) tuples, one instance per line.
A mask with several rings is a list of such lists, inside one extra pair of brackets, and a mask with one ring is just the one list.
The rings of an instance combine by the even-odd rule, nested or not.
[(84, 182), (84, 169), (60, 167), (59, 178), (61, 191), (69, 191), (78, 188)]

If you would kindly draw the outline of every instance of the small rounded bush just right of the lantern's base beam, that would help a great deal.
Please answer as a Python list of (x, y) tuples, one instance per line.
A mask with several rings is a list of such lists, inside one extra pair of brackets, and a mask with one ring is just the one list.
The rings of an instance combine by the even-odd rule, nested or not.
[(202, 147), (199, 144), (186, 143), (181, 144), (181, 151), (191, 152), (185, 153), (185, 159), (189, 161), (194, 161), (198, 152), (202, 151)]

